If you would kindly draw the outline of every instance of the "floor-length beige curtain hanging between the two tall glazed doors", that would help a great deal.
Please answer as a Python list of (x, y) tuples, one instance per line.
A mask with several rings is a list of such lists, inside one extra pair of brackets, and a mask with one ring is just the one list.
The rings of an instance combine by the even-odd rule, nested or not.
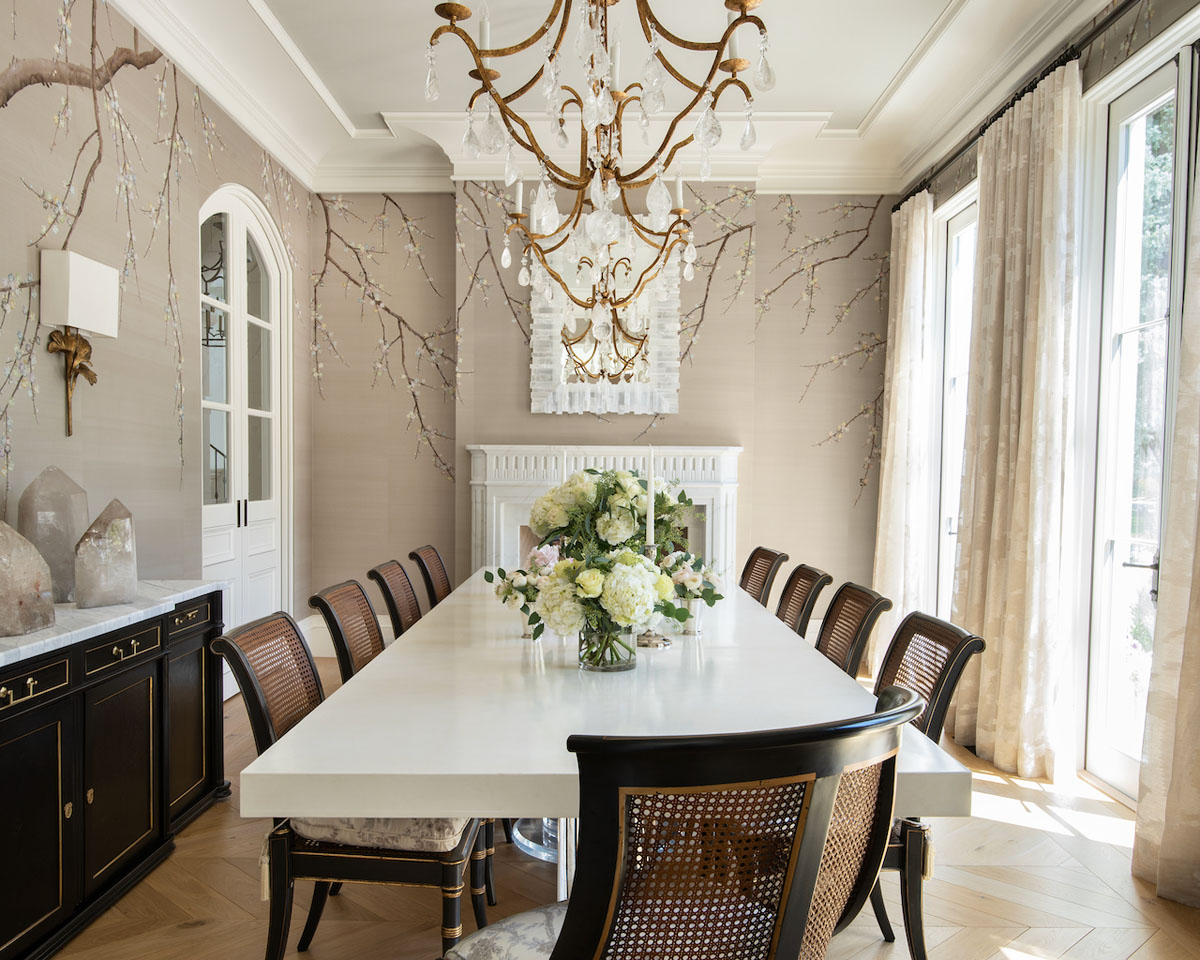
[[(948, 728), (1021, 776), (1051, 775), (1069, 692), (1061, 602), (1075, 385), (1079, 65), (1044, 79), (979, 151), (967, 430), (954, 620), (988, 649)], [(1073, 761), (1072, 761), (1073, 762)]]

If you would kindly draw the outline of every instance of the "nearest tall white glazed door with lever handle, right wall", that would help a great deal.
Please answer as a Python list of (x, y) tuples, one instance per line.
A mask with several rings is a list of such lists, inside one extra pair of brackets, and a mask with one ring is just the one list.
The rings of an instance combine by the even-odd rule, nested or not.
[(1129, 797), (1146, 721), (1178, 324), (1177, 80), (1168, 64), (1109, 109), (1086, 767)]

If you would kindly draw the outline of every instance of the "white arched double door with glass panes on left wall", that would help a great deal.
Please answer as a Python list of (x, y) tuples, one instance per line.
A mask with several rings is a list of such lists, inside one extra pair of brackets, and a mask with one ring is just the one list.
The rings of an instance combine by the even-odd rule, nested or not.
[(204, 576), (230, 582), (226, 625), (236, 626), (284, 606), (281, 270), (242, 206), (202, 216)]

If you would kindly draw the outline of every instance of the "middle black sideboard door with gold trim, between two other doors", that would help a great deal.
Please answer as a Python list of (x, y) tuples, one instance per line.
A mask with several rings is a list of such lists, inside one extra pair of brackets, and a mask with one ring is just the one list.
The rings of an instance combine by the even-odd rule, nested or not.
[(157, 661), (84, 696), (84, 894), (118, 877), (162, 836)]

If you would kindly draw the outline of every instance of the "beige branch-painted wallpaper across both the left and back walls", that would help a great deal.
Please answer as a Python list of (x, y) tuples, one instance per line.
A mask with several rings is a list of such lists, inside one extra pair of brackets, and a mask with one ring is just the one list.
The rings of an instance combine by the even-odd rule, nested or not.
[[(133, 50), (133, 29), (98, 8), (102, 56)], [(53, 59), (59, 44), (85, 62), (89, 12), (76, 4), (64, 48), (56, 5), (18, 0), (16, 36), (2, 41), (10, 59)], [(527, 292), (515, 269), (498, 269), (503, 188), (308, 194), (166, 59), (142, 62), (146, 50), (138, 42), (97, 98), (104, 151), (86, 192), (91, 91), (71, 88), (64, 101), (62, 85), (0, 90), (0, 280), (13, 275), (0, 286), (17, 284), (0, 325), (10, 522), (29, 480), (55, 463), (86, 487), (94, 514), (112, 497), (130, 506), (143, 577), (199, 574), (198, 214), (238, 182), (263, 198), (294, 272), (298, 614), (313, 589), (364, 580), (383, 559), (407, 563), (425, 542), (467, 576), (472, 443), (740, 444), (737, 563), (768, 542), (838, 580), (869, 581), (889, 198), (690, 190), (701, 263), (684, 289), (682, 412), (533, 415)], [(52, 221), (58, 229), (41, 236)], [(96, 342), (100, 382), (80, 384), (67, 438), (61, 360), (46, 353), (36, 301), (26, 322), (23, 298), (36, 289), (41, 247), (70, 234), (68, 248), (121, 268), (131, 228), (120, 337)]]

